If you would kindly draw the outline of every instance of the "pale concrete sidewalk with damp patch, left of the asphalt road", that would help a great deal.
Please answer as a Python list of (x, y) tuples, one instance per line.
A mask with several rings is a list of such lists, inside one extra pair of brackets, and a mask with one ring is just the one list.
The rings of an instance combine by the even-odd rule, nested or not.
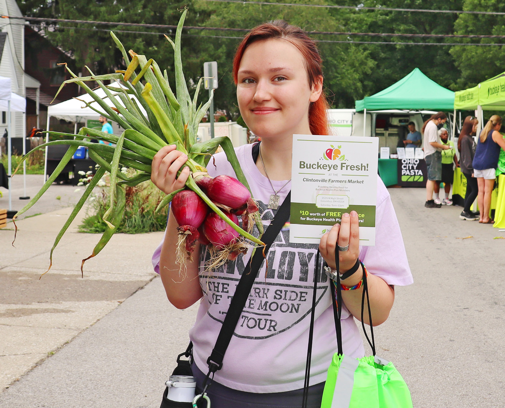
[[(60, 186), (55, 186), (60, 187)], [(53, 255), (49, 251), (72, 208), (61, 208), (0, 230), (0, 389), (4, 390), (64, 344), (114, 310), (155, 276), (153, 249), (163, 233), (116, 234), (84, 265), (99, 234), (78, 234), (84, 211)], [(12, 222), (8, 228), (12, 228)], [(132, 256), (135, 254), (135, 256)]]

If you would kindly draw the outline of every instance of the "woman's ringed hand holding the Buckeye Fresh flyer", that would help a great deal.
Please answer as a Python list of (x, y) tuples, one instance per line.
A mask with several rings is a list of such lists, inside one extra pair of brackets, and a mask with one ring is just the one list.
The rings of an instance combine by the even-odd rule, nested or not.
[(340, 274), (345, 273), (355, 265), (360, 256), (360, 229), (358, 213), (351, 211), (342, 214), (340, 224), (333, 225), (332, 229), (321, 237), (319, 250), (328, 266), (336, 269), (335, 251), (337, 244), (340, 247), (349, 245), (347, 251), (338, 251)]

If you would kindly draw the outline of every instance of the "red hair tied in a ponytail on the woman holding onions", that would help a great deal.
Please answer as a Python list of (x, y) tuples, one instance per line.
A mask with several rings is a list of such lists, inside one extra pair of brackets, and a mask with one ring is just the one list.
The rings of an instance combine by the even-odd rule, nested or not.
[[(237, 73), (245, 49), (255, 41), (282, 38), (295, 46), (305, 60), (305, 67), (309, 78), (309, 86), (313, 87), (323, 76), (323, 60), (316, 46), (316, 41), (299, 27), (290, 25), (284, 20), (275, 20), (261, 24), (250, 30), (238, 44), (233, 59), (233, 80), (238, 82)], [(324, 90), (316, 102), (309, 107), (309, 125), (312, 134), (330, 134), (326, 110), (329, 108)]]

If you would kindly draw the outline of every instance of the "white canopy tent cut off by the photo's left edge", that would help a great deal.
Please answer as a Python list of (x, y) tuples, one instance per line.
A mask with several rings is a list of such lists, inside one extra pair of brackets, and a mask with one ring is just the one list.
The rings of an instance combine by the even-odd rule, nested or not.
[[(11, 78), (0, 76), (0, 110), (7, 111), (7, 175), (9, 178), (9, 211), (12, 211), (12, 132), (11, 112), (25, 112), (26, 99), (11, 92)], [(23, 134), (23, 155), (26, 154), (25, 135)], [(26, 162), (23, 162), (23, 184), (26, 196)]]

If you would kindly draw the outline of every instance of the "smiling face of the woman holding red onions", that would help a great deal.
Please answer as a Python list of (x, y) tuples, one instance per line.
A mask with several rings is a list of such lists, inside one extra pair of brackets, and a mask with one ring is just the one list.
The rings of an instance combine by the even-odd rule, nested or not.
[(237, 101), (249, 129), (262, 138), (310, 134), (309, 106), (320, 83), (309, 86), (304, 57), (282, 39), (256, 41), (244, 52), (237, 75)]

